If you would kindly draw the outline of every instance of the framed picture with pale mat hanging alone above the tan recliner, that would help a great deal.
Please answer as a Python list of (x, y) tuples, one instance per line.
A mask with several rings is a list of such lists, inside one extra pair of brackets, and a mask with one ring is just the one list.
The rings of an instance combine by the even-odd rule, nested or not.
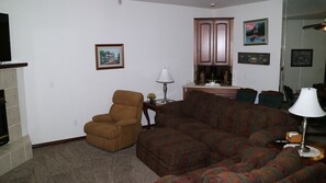
[(97, 44), (97, 70), (124, 68), (123, 44)]

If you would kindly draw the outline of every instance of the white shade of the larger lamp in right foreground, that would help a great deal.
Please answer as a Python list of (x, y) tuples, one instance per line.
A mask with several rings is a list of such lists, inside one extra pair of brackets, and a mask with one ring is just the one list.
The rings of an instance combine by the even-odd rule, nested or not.
[(304, 117), (322, 117), (326, 115), (318, 102), (317, 90), (314, 88), (301, 89), (299, 99), (289, 108), (289, 112)]

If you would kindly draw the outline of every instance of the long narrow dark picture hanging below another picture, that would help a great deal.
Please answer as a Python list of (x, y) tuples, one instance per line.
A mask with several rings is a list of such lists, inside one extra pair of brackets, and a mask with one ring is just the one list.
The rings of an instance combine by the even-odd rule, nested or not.
[(269, 60), (268, 53), (238, 53), (239, 64), (269, 65)]

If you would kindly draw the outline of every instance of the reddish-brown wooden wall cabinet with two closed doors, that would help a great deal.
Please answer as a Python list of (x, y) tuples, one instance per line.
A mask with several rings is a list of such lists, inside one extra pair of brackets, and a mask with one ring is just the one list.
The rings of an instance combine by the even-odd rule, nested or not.
[(233, 18), (194, 19), (194, 62), (232, 65)]

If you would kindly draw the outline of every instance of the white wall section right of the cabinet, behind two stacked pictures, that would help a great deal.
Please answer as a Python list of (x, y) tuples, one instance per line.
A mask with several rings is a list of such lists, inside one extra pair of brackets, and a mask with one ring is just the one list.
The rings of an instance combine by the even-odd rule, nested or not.
[[(282, 35), (282, 0), (266, 1), (216, 10), (216, 16), (234, 19), (233, 84), (262, 90), (279, 90)], [(268, 45), (244, 46), (244, 21), (268, 19)], [(270, 65), (237, 62), (238, 53), (270, 53)]]

